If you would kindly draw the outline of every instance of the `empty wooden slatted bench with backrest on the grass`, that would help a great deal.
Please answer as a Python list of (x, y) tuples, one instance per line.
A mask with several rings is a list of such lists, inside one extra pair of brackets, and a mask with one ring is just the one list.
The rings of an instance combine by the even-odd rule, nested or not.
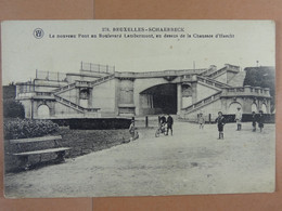
[(43, 136), (43, 137), (33, 137), (33, 139), (21, 139), (21, 140), (10, 140), (9, 144), (15, 144), (17, 145), (18, 150), (23, 150), (21, 145), (27, 144), (27, 143), (40, 143), (40, 142), (54, 142), (55, 148), (47, 148), (41, 150), (30, 150), (30, 151), (22, 151), (22, 153), (9, 153), (10, 155), (17, 156), (21, 163), (20, 167), (24, 168), (25, 170), (28, 170), (30, 164), (28, 163), (28, 156), (30, 155), (39, 155), (39, 162), (41, 162), (41, 157), (43, 154), (56, 154), (56, 162), (63, 162), (65, 151), (70, 149), (68, 147), (61, 147), (61, 145), (57, 143), (59, 140), (62, 140), (62, 136)]

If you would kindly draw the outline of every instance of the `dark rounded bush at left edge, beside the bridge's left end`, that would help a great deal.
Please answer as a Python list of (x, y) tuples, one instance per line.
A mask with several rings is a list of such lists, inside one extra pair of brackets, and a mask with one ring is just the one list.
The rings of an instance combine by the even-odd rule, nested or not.
[(3, 101), (3, 115), (4, 118), (25, 118), (24, 106), (14, 100)]

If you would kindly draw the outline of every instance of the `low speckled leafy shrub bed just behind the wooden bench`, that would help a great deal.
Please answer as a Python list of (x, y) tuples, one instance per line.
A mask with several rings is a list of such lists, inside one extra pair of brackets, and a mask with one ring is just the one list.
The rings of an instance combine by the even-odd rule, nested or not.
[(59, 126), (50, 120), (10, 119), (4, 120), (4, 139), (16, 140), (39, 137), (59, 131)]

